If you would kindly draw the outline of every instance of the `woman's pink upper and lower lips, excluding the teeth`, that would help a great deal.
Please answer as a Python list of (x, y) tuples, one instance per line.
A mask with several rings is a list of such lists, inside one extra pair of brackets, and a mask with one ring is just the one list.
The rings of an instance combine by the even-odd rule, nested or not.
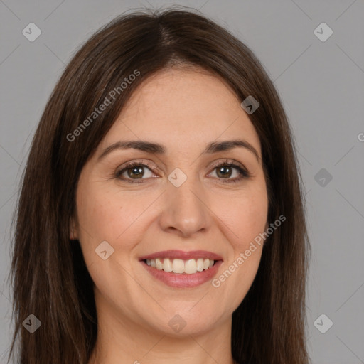
[[(159, 270), (153, 267), (150, 267), (145, 259), (156, 259), (156, 258), (170, 258), (170, 259), (198, 259), (198, 258), (208, 258), (211, 260), (215, 260), (215, 264), (213, 267), (208, 269), (204, 269), (202, 272), (196, 272), (193, 274), (187, 273), (173, 273), (173, 272), (164, 272), (164, 270)], [(213, 279), (215, 274), (217, 274), (218, 269), (221, 264), (223, 264), (223, 258), (220, 255), (217, 255), (213, 252), (208, 252), (207, 250), (194, 250), (191, 252), (183, 252), (183, 250), (164, 250), (163, 252), (156, 252), (150, 255), (145, 255), (144, 257), (140, 257), (139, 261), (143, 265), (143, 267), (149, 272), (154, 278), (159, 279), (159, 281), (163, 282), (169, 287), (173, 288), (193, 288), (198, 287), (200, 284), (208, 282), (210, 279)]]

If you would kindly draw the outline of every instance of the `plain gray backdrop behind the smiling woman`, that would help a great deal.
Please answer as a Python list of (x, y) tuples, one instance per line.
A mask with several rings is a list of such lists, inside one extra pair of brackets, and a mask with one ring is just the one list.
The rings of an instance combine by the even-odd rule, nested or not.
[[(97, 28), (124, 11), (169, 4), (200, 9), (228, 28), (274, 80), (294, 131), (306, 189), (313, 248), (307, 301), (311, 360), (364, 363), (363, 0), (0, 1), (0, 363), (12, 329), (11, 215), (50, 92), (72, 53)], [(22, 34), (31, 22), (42, 31), (33, 42)], [(324, 42), (314, 33), (322, 22), (333, 30)], [(316, 176), (321, 168), (325, 181)], [(327, 173), (333, 177), (329, 183)], [(314, 326), (321, 314), (333, 321), (326, 333)], [(324, 328), (328, 319), (320, 320)]]

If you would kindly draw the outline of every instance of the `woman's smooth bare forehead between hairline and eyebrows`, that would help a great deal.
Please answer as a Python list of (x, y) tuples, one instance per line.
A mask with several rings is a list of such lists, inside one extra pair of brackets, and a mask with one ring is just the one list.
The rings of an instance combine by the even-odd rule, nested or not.
[(259, 137), (227, 82), (206, 70), (163, 70), (145, 80), (101, 146), (147, 139), (171, 148), (242, 137), (259, 151)]

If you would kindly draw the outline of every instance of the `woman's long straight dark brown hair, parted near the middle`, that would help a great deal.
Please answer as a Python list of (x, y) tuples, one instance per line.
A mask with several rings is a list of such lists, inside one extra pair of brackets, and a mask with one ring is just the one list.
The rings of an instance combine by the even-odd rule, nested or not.
[[(308, 362), (304, 193), (279, 95), (259, 60), (231, 33), (193, 12), (167, 9), (123, 14), (101, 28), (73, 56), (50, 95), (14, 213), (15, 328), (9, 358), (18, 339), (18, 363), (89, 360), (97, 338), (93, 282), (79, 243), (70, 241), (77, 181), (136, 87), (176, 64), (222, 77), (241, 102), (249, 95), (258, 100), (250, 120), (262, 146), (268, 219), (287, 218), (266, 240), (252, 287), (232, 314), (232, 356), (250, 364)], [(120, 87), (136, 70), (133, 82)], [(114, 98), (112, 90), (118, 90)], [(91, 122), (105, 97), (111, 105)], [(41, 321), (33, 334), (22, 325), (30, 314)]]

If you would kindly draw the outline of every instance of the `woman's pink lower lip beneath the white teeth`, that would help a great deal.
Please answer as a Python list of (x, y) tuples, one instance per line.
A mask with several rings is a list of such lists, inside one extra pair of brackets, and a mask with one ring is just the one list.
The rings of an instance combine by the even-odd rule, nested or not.
[(222, 260), (218, 260), (218, 262), (215, 262), (215, 264), (213, 264), (213, 267), (204, 269), (202, 272), (196, 272), (193, 274), (178, 274), (173, 272), (164, 272), (164, 270), (152, 268), (151, 266), (146, 264), (144, 260), (141, 260), (140, 262), (153, 277), (159, 279), (167, 286), (174, 288), (193, 288), (200, 286), (200, 284), (208, 282), (210, 279), (213, 278), (213, 276), (215, 276), (215, 274), (218, 272), (220, 265), (223, 263)]

